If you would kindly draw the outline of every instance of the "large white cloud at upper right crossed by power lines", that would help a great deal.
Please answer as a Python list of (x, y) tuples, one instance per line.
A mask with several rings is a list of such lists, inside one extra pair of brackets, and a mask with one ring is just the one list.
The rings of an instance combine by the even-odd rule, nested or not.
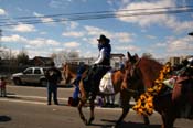
[[(120, 11), (116, 14), (128, 14), (132, 15), (133, 13), (141, 12), (152, 12), (154, 8), (164, 8), (164, 7), (175, 7), (174, 0), (159, 0), (159, 1), (142, 1), (142, 2), (132, 2), (122, 6), (119, 10), (138, 10), (138, 9), (148, 9), (148, 10), (138, 10), (138, 11)], [(151, 10), (152, 9), (152, 10)], [(157, 9), (157, 11), (167, 11), (167, 9)], [(133, 15), (133, 17), (118, 17), (119, 20), (129, 23), (138, 23), (140, 26), (150, 26), (152, 24), (160, 24), (168, 26), (176, 32), (184, 30), (190, 30), (190, 26), (193, 25), (193, 21), (180, 21), (174, 15), (163, 14), (153, 14), (153, 15)]]

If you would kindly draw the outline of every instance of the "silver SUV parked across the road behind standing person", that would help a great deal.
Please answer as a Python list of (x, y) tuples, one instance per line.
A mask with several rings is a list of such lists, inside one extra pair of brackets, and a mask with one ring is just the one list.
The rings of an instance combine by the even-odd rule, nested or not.
[(47, 83), (44, 76), (45, 71), (46, 67), (28, 67), (21, 73), (12, 74), (11, 78), (15, 85), (34, 83), (45, 86)]

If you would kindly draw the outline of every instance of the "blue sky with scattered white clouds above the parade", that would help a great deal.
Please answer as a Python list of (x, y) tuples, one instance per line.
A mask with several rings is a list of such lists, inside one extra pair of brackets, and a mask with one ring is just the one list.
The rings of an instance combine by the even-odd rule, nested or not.
[[(30, 57), (50, 56), (61, 51), (76, 51), (79, 56), (98, 55), (97, 39), (110, 39), (112, 53), (151, 53), (162, 58), (193, 55), (193, 12), (153, 15), (117, 17), (62, 22), (45, 18), (51, 14), (72, 14), (120, 10), (193, 6), (192, 0), (0, 0), (0, 21), (12, 22), (19, 17), (33, 17), (42, 23), (0, 26), (1, 49), (18, 54), (25, 50)], [(144, 12), (146, 10), (143, 10)], [(160, 11), (160, 10), (156, 10)], [(165, 10), (164, 10), (165, 11)], [(124, 14), (125, 11), (121, 12)], [(130, 12), (131, 13), (131, 12)], [(41, 17), (41, 18), (40, 18)], [(44, 17), (44, 18), (42, 18)], [(66, 17), (60, 17), (66, 19)], [(2, 24), (1, 24), (2, 25)]]

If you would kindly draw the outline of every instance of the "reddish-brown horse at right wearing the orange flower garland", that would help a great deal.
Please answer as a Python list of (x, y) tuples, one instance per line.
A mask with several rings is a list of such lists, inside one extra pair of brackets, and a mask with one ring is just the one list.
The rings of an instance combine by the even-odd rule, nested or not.
[[(139, 94), (141, 94), (141, 88), (143, 89), (153, 86), (162, 65), (154, 60), (147, 57), (139, 58), (137, 55), (131, 56), (130, 53), (128, 53), (128, 58), (122, 86), (128, 89), (138, 90)], [(189, 79), (187, 82), (191, 85), (193, 84), (192, 79)], [(167, 86), (163, 87), (163, 89), (165, 88)], [(160, 93), (153, 98), (154, 109), (162, 117), (162, 128), (172, 128), (174, 120), (179, 118), (182, 106), (173, 103), (171, 93), (165, 93), (165, 90), (162, 92), (163, 93)]]

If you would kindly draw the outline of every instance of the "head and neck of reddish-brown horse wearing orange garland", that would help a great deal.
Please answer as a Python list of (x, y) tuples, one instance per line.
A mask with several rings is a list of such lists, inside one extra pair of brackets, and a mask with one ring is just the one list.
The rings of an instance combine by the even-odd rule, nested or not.
[(122, 83), (124, 88), (141, 89), (153, 86), (162, 65), (156, 60), (141, 57), (137, 54), (130, 55), (126, 62), (126, 74)]

